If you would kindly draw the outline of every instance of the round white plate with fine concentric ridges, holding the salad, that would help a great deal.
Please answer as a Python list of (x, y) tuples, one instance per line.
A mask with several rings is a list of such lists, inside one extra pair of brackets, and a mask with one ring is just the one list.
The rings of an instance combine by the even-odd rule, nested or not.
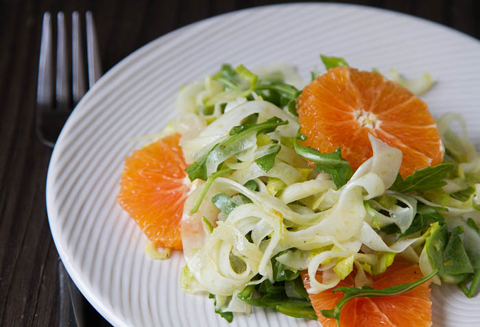
[[(480, 43), (405, 14), (357, 5), (291, 4), (241, 10), (169, 33), (134, 52), (82, 99), (53, 150), (47, 178), (51, 233), (69, 274), (115, 326), (317, 326), (255, 310), (228, 325), (213, 300), (179, 289), (181, 252), (167, 261), (145, 256), (146, 238), (115, 202), (123, 159), (175, 117), (187, 82), (223, 62), (296, 64), (307, 80), (319, 53), (343, 56), (361, 69), (394, 67), (408, 77), (431, 72), (424, 99), (435, 115), (468, 117), (480, 143)], [(480, 297), (433, 288), (433, 326), (478, 326)]]

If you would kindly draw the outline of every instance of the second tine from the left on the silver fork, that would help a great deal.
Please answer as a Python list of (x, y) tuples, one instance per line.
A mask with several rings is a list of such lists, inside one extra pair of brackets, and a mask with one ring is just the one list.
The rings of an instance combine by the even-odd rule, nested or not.
[(69, 106), (68, 64), (67, 64), (67, 33), (63, 12), (57, 14), (57, 106), (66, 109)]

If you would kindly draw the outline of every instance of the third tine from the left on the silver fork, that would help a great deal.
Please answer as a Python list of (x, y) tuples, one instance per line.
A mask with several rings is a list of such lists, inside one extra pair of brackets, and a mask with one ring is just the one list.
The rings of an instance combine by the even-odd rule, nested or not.
[(80, 32), (78, 12), (72, 12), (72, 90), (74, 106), (86, 91), (82, 50), (82, 33)]

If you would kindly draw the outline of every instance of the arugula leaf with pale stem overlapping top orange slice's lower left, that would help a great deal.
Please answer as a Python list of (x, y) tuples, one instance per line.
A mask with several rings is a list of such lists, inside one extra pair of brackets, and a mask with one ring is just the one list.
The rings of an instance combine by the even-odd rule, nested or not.
[(315, 169), (320, 173), (329, 173), (335, 186), (339, 189), (344, 186), (346, 182), (352, 177), (353, 170), (350, 167), (350, 163), (344, 158), (341, 158), (341, 149), (338, 148), (335, 152), (330, 154), (321, 154), (316, 149), (311, 147), (302, 147), (298, 145), (298, 140), (306, 140), (307, 136), (297, 134), (295, 141), (293, 142), (293, 148), (296, 154), (303, 158), (315, 162)]

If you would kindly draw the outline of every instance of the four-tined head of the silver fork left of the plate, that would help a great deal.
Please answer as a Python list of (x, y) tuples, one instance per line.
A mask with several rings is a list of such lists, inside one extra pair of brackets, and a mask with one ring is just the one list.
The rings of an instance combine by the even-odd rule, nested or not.
[[(45, 145), (53, 147), (60, 130), (73, 108), (86, 91), (82, 34), (78, 12), (72, 13), (72, 87), (69, 83), (69, 60), (67, 51), (67, 29), (63, 12), (57, 14), (56, 82), (53, 82), (53, 36), (49, 12), (43, 14), (40, 60), (38, 62), (38, 84), (36, 98), (36, 132)], [(88, 60), (88, 84), (101, 76), (101, 65), (95, 23), (91, 12), (85, 14), (86, 52)], [(55, 87), (53, 87), (55, 85)], [(55, 90), (55, 92), (54, 92)], [(55, 96), (55, 98), (53, 98)]]

